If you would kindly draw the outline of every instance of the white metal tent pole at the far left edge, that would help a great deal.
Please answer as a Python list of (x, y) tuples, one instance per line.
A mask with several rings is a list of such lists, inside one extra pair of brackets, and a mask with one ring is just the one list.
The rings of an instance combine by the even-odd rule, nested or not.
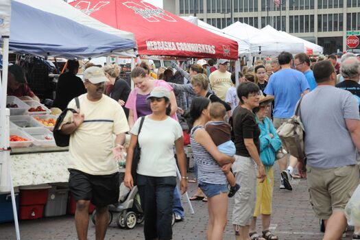
[[(1, 93), (1, 112), (0, 112), (0, 123), (1, 126), (1, 141), (0, 141), (0, 150), (1, 155), (4, 156), (3, 163), (7, 167), (8, 170), (8, 181), (10, 182), (10, 191), (11, 191), (11, 201), (12, 201), (12, 211), (14, 213), (14, 222), (15, 222), (15, 231), (16, 231), (16, 239), (20, 240), (20, 230), (19, 230), (19, 220), (16, 211), (16, 201), (15, 201), (15, 193), (14, 186), (12, 184), (12, 176), (11, 176), (11, 161), (10, 161), (10, 142), (9, 142), (9, 124), (7, 121), (9, 119), (6, 117), (6, 93), (8, 91), (8, 65), (9, 65), (9, 36), (2, 36), (3, 38), (3, 82), (2, 82), (2, 93)], [(4, 164), (2, 165), (4, 166)], [(4, 169), (1, 169), (3, 171)], [(2, 174), (1, 174), (2, 175)], [(2, 185), (2, 183), (1, 183)]]

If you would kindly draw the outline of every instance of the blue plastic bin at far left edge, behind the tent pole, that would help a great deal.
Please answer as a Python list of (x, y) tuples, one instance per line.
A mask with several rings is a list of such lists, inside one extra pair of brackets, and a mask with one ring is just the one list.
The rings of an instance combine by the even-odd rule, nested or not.
[[(19, 189), (15, 188), (16, 211), (19, 215)], [(4, 222), (14, 221), (14, 212), (12, 211), (12, 202), (10, 193), (0, 194), (0, 224)]]

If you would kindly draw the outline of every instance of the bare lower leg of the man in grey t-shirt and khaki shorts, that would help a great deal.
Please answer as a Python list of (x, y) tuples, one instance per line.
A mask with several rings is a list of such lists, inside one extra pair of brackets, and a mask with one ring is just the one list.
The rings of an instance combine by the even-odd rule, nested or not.
[(325, 220), (325, 234), (323, 240), (340, 240), (346, 229), (346, 217), (343, 212), (334, 212)]

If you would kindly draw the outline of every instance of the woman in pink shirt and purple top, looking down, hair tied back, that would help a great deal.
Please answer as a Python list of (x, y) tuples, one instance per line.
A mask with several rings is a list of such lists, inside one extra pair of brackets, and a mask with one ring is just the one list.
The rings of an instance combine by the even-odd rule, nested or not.
[(149, 75), (147, 75), (145, 69), (141, 67), (135, 67), (131, 71), (131, 78), (134, 82), (135, 88), (132, 89), (128, 101), (126, 101), (125, 108), (129, 109), (129, 126), (132, 128), (135, 121), (139, 117), (143, 117), (152, 113), (149, 102), (146, 98), (149, 96), (150, 92), (156, 86), (163, 86), (170, 91), (170, 104), (171, 112), (170, 116), (173, 119), (178, 120), (176, 117), (176, 110), (178, 110), (178, 105), (176, 104), (175, 94), (173, 93), (173, 88), (163, 80), (150, 80)]

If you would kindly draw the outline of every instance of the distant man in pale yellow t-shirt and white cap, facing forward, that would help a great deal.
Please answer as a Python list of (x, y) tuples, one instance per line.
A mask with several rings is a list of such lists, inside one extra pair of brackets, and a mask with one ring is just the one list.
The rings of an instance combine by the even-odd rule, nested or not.
[(230, 86), (232, 86), (231, 73), (228, 72), (228, 64), (229, 60), (220, 59), (219, 69), (213, 71), (213, 73), (211, 73), (211, 75), (208, 77), (210, 86), (215, 92), (215, 95), (217, 95), (217, 97), (223, 101), (226, 99), (226, 93), (228, 92), (228, 89)]

